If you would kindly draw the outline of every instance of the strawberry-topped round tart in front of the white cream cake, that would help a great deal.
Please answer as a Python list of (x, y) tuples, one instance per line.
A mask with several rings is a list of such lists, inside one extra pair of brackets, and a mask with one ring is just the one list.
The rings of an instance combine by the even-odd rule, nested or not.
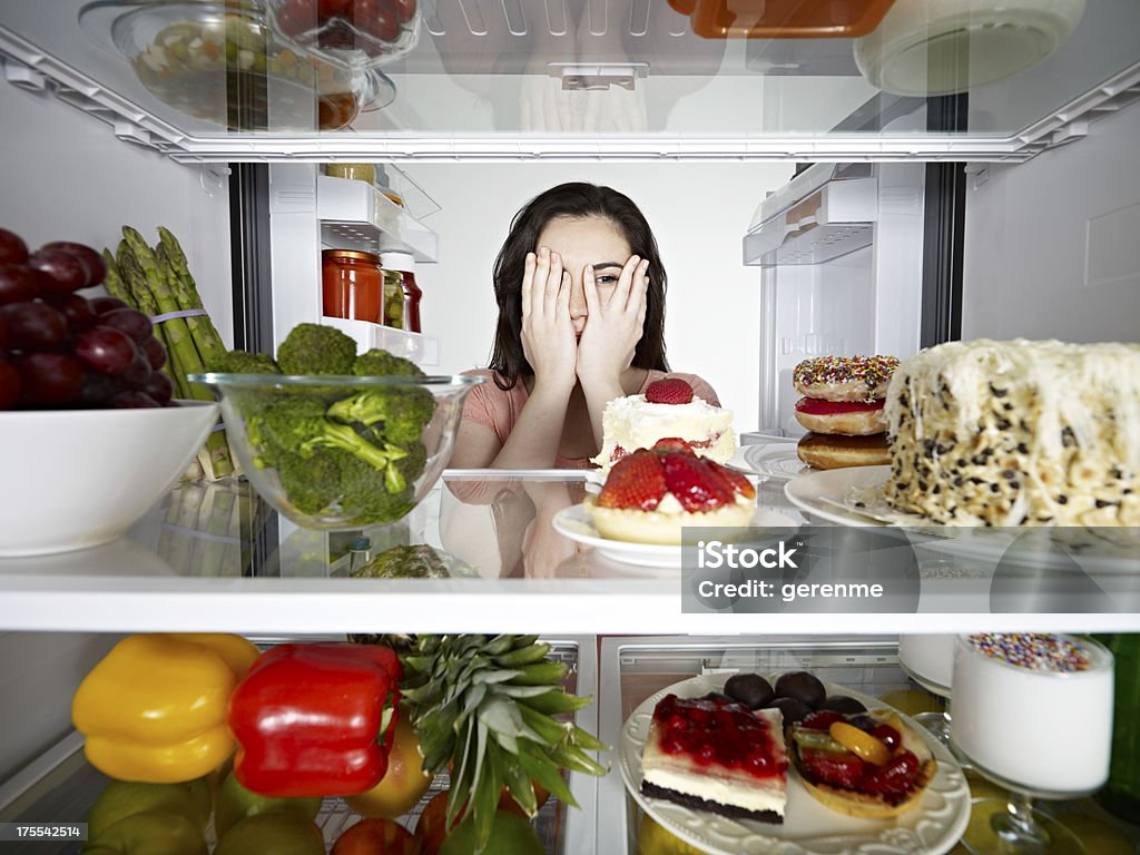
[(748, 526), (756, 488), (684, 440), (662, 439), (618, 461), (585, 508), (603, 537), (676, 545), (686, 526)]

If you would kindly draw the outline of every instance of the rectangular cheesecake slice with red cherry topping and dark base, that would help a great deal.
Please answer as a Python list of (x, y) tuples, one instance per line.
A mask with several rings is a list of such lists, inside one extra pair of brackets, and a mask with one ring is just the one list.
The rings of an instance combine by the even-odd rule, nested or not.
[(666, 695), (642, 754), (642, 792), (723, 816), (783, 823), (788, 758), (780, 710)]

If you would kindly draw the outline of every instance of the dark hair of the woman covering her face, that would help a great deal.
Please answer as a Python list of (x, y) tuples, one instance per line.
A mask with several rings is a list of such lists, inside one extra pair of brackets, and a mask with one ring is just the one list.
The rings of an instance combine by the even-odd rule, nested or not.
[(634, 350), (633, 365), (635, 368), (668, 370), (665, 360), (665, 290), (668, 279), (653, 231), (645, 215), (625, 194), (610, 187), (575, 181), (552, 187), (523, 205), (511, 221), (511, 233), (495, 259), (492, 276), (499, 317), (490, 368), (496, 374), (496, 384), (500, 389), (513, 389), (520, 377), (535, 373), (522, 352), (522, 274), (527, 253), (535, 251), (543, 229), (559, 217), (606, 219), (621, 230), (632, 254), (649, 259), (645, 324)]

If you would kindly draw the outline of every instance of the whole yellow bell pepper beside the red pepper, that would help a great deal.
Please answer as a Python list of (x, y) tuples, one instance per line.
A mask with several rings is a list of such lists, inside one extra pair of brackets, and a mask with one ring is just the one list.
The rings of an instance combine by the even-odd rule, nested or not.
[(222, 633), (154, 633), (119, 642), (72, 699), (88, 762), (111, 777), (176, 783), (205, 775), (234, 751), (226, 710), (258, 658)]

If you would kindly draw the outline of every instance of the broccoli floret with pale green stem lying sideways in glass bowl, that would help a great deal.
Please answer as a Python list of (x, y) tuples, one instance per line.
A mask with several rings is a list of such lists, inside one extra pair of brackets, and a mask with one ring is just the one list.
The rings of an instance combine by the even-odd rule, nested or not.
[(302, 457), (319, 449), (339, 448), (383, 471), (393, 459), (406, 455), (393, 446), (377, 448), (347, 424), (325, 418), (325, 405), (317, 398), (286, 398), (256, 418), (258, 435), (266, 445)]

